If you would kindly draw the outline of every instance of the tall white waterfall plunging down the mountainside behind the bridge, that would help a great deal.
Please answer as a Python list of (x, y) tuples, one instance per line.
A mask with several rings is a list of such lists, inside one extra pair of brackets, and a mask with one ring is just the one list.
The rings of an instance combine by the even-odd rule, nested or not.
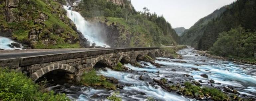
[(96, 46), (110, 47), (101, 36), (101, 27), (87, 22), (78, 12), (70, 10), (70, 6), (63, 7), (67, 11), (67, 17), (74, 22), (77, 30), (81, 31), (83, 36), (88, 39), (90, 45), (95, 43)]

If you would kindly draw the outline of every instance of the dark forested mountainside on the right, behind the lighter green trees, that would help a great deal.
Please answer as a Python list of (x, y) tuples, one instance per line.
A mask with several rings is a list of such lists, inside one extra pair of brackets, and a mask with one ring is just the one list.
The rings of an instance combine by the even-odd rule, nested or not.
[(200, 19), (181, 36), (183, 44), (200, 50), (208, 50), (219, 33), (239, 26), (246, 30), (256, 29), (256, 1), (238, 0)]

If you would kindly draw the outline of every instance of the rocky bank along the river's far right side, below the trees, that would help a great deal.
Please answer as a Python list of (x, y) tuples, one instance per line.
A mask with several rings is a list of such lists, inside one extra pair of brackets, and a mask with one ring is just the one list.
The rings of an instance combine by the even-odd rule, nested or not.
[(199, 55), (202, 56), (206, 56), (206, 57), (210, 57), (210, 58), (215, 58), (215, 59), (221, 59), (221, 60), (230, 60), (233, 61), (234, 63), (246, 63), (246, 64), (256, 64), (256, 59), (253, 58), (246, 58), (246, 59), (241, 59), (238, 57), (232, 57), (232, 58), (228, 58), (228, 57), (221, 57), (221, 56), (216, 56), (210, 53), (210, 51), (196, 51), (196, 53), (198, 53)]

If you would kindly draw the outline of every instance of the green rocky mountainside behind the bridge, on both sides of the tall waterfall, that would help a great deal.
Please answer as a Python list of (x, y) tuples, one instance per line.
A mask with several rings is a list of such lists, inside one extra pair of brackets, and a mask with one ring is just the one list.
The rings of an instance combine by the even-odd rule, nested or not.
[[(69, 0), (75, 2), (75, 0)], [(0, 1), (0, 36), (25, 48), (88, 47), (86, 37), (66, 17), (65, 0)], [(177, 44), (180, 39), (163, 16), (137, 12), (130, 0), (82, 0), (73, 5), (86, 20), (104, 29), (111, 47)]]

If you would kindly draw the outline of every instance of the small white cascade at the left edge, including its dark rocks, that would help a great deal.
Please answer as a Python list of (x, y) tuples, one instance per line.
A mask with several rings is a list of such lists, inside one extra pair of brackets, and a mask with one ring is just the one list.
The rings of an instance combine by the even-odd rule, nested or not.
[(22, 49), (22, 48), (23, 46), (20, 43), (14, 42), (9, 38), (0, 36), (0, 49), (14, 50), (14, 49)]

